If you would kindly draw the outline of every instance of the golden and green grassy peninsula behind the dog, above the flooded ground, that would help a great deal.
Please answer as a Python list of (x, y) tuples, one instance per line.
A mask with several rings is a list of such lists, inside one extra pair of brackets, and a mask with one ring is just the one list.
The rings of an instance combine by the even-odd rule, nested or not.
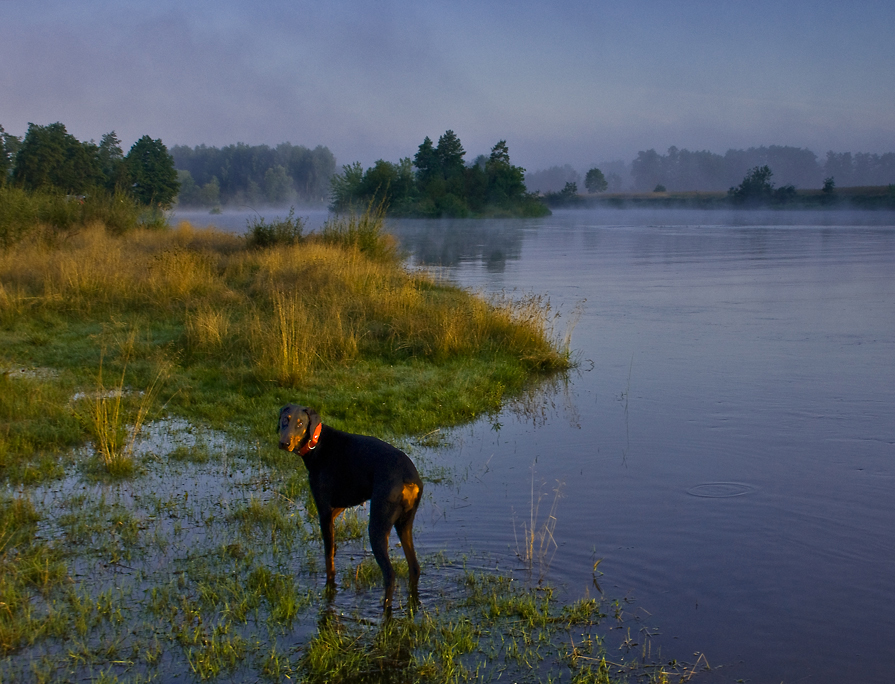
[[(417, 434), (568, 367), (546, 302), (485, 301), (401, 263), (379, 216), (267, 248), (188, 224), (22, 241), (0, 253), (3, 362), (68, 389), (158, 382), (169, 411), (265, 439), (289, 400), (340, 427)], [(40, 453), (83, 438), (71, 427), (17, 439)], [(27, 479), (18, 459), (0, 473)]]

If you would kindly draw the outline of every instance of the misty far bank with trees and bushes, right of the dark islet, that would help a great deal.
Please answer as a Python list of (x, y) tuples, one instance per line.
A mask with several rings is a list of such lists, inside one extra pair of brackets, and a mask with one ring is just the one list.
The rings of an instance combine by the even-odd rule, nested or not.
[[(756, 170), (766, 177), (752, 182)], [(631, 162), (602, 162), (585, 176), (568, 164), (553, 166), (527, 173), (525, 183), (551, 207), (892, 208), (895, 153), (829, 151), (821, 158), (784, 145), (724, 154), (672, 146), (665, 154), (642, 150)]]

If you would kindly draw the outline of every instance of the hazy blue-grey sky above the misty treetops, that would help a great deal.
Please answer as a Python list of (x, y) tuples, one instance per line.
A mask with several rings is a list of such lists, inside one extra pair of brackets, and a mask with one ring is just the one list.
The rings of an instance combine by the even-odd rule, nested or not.
[(895, 2), (0, 0), (0, 124), (533, 171), (677, 145), (895, 151)]

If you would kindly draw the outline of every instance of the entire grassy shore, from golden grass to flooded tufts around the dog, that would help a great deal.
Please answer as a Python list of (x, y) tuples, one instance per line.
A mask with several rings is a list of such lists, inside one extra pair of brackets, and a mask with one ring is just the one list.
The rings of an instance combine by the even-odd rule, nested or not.
[(382, 216), (256, 228), (35, 224), (0, 252), (0, 682), (666, 681), (630, 638), (607, 660), (619, 602), (459, 555), (382, 619), (363, 509), (327, 595), (279, 406), (413, 450), (568, 368), (568, 340), (538, 297), (407, 271)]

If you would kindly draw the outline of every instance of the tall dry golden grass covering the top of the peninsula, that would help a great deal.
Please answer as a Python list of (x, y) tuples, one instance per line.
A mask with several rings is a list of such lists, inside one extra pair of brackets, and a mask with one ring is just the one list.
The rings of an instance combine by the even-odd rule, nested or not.
[(189, 353), (225, 354), (286, 385), (368, 356), (507, 352), (533, 368), (567, 366), (548, 302), (486, 301), (409, 272), (381, 222), (339, 219), (321, 235), (267, 249), (187, 223), (124, 235), (93, 224), (52, 247), (0, 251), (0, 318), (165, 318), (182, 326)]

